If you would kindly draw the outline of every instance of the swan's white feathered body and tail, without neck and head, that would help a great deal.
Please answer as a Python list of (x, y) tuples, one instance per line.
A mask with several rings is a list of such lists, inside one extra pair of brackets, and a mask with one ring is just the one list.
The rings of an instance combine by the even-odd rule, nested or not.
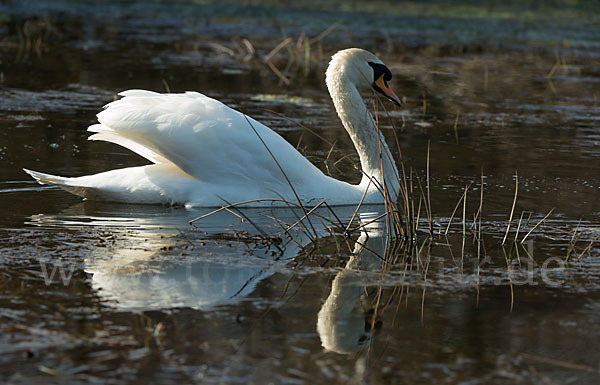
[(153, 165), (77, 178), (25, 171), (42, 184), (103, 201), (208, 207), (360, 198), (356, 186), (324, 175), (277, 133), (215, 99), (197, 92), (120, 95), (98, 114), (89, 139), (121, 145)]

